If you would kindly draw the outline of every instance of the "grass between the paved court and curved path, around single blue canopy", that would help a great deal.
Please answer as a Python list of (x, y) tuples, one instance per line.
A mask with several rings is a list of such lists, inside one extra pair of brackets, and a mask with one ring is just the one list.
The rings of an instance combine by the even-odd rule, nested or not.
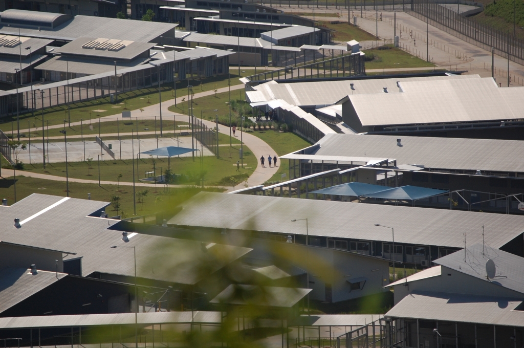
[[(205, 172), (205, 185), (214, 185), (224, 177), (231, 177), (238, 174), (235, 166), (236, 161), (239, 160), (238, 149), (238, 145), (231, 149), (232, 158), (229, 158), (230, 147), (228, 146), (220, 147), (220, 159), (214, 156), (203, 157), (202, 170)], [(135, 161), (135, 166), (138, 165), (138, 170), (136, 168), (135, 170), (137, 170), (136, 172), (140, 179), (145, 178), (145, 172), (153, 171), (153, 161), (155, 161), (157, 175), (160, 175), (160, 170), (163, 172), (168, 168), (166, 158), (159, 157), (158, 159), (152, 159), (149, 156), (143, 157)], [(243, 169), (242, 172), (247, 173), (247, 175), (251, 175), (257, 166), (257, 159), (246, 146), (244, 146), (244, 164), (246, 168)], [(69, 162), (69, 177), (98, 180), (98, 166), (99, 163), (96, 159), (93, 160), (91, 164), (92, 169), (89, 170), (87, 162)], [(200, 158), (195, 157), (195, 161), (193, 162), (191, 157), (172, 157), (171, 169), (175, 174), (182, 174), (188, 178), (188, 181), (182, 183), (192, 183), (194, 181), (190, 178), (198, 175), (201, 170)], [(65, 177), (65, 163), (63, 162), (48, 164), (46, 171), (43, 170), (42, 165), (26, 165), (25, 170)], [(130, 159), (105, 160), (100, 162), (100, 180), (117, 181), (120, 173), (122, 173), (120, 181), (133, 181), (133, 162)]]

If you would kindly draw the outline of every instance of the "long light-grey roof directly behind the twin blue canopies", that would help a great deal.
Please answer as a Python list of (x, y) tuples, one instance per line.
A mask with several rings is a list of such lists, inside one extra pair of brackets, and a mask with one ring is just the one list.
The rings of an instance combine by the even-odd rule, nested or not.
[[(423, 165), (444, 170), (524, 172), (522, 142), (497, 139), (400, 137), (390, 135), (329, 134), (312, 157), (369, 156), (396, 159), (397, 165)], [(292, 155), (286, 155), (292, 158)], [(340, 158), (343, 160), (343, 158)]]

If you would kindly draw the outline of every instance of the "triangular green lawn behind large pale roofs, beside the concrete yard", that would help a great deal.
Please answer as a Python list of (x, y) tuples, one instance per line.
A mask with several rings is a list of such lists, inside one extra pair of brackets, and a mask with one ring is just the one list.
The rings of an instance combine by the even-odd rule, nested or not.
[(389, 68), (421, 68), (434, 67), (418, 57), (412, 56), (400, 48), (378, 49), (373, 48), (364, 50), (366, 59), (373, 58), (372, 61), (366, 60), (366, 70), (368, 69), (389, 69)]

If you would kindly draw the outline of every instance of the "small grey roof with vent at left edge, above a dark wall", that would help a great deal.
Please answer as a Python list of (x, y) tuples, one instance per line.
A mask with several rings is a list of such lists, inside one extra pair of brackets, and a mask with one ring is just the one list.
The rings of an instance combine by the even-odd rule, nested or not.
[[(32, 275), (31, 270), (26, 268), (0, 269), (0, 313), (58, 281), (56, 275), (41, 270)], [(58, 274), (58, 278), (64, 276), (63, 273)]]

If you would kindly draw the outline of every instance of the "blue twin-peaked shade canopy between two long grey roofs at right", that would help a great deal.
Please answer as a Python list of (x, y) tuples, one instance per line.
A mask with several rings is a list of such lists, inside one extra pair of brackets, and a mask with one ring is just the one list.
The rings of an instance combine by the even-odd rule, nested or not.
[(428, 198), (446, 192), (446, 190), (435, 190), (411, 185), (391, 188), (387, 186), (373, 185), (363, 182), (348, 182), (328, 187), (325, 189), (312, 191), (310, 193), (346, 195), (354, 196), (357, 198), (381, 198), (388, 200), (414, 202), (418, 199)]

